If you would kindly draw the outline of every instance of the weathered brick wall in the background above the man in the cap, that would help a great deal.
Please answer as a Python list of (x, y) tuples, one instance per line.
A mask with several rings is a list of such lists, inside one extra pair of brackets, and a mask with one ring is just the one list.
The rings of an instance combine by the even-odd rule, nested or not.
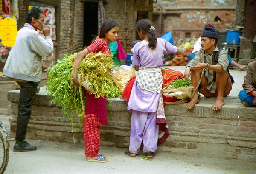
[(220, 32), (236, 25), (236, 0), (158, 0), (157, 3), (162, 12), (169, 13), (163, 20), (164, 32), (173, 31), (175, 40), (185, 37), (186, 32), (191, 33), (191, 37), (198, 37), (208, 22)]

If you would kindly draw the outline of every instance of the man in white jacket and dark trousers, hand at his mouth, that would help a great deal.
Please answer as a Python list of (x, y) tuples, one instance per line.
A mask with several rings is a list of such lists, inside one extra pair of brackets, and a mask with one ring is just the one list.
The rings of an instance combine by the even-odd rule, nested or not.
[[(36, 30), (42, 30), (43, 38)], [(26, 141), (26, 128), (32, 109), (32, 99), (38, 92), (38, 82), (42, 76), (42, 56), (49, 56), (53, 51), (50, 28), (44, 25), (44, 11), (33, 7), (26, 14), (26, 23), (17, 32), (15, 45), (9, 53), (3, 69), (3, 75), (17, 81), (20, 85), (16, 143), (13, 151), (32, 151)]]

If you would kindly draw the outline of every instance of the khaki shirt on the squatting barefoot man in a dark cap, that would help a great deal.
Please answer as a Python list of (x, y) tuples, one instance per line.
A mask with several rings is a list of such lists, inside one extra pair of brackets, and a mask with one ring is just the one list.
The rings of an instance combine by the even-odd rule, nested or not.
[[(206, 51), (198, 51), (195, 54), (195, 58), (192, 61), (190, 61), (186, 67), (192, 68), (193, 66), (197, 65), (198, 63), (208, 63), (209, 65), (213, 65), (212, 54), (214, 53), (214, 51), (218, 51), (218, 50), (219, 50), (218, 47), (216, 47), (209, 54)], [(206, 57), (206, 62), (201, 61), (201, 56), (203, 56), (203, 55), (201, 55), (202, 53)], [(219, 53), (219, 59), (218, 59), (218, 63), (216, 65), (221, 65), (223, 68), (223, 72), (227, 71), (228, 58), (227, 58), (227, 52), (225, 50), (221, 50), (221, 52)], [(211, 93), (215, 93), (216, 92), (216, 83), (215, 83), (215, 81), (213, 81), (213, 78), (214, 78), (213, 72), (214, 71), (209, 70), (209, 69), (207, 71), (205, 73), (205, 77), (207, 79), (207, 90), (209, 90), (209, 92), (211, 92)]]

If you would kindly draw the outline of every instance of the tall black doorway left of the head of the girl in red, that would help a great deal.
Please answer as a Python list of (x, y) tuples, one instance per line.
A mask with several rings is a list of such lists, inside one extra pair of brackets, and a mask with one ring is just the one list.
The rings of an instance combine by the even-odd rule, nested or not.
[(84, 47), (89, 46), (98, 33), (98, 2), (84, 2)]

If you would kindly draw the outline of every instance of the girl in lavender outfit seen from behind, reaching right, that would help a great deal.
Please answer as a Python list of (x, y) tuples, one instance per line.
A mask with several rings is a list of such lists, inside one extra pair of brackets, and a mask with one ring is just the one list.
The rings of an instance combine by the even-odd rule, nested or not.
[(138, 74), (128, 102), (128, 109), (132, 111), (131, 136), (129, 150), (125, 154), (137, 157), (143, 142), (143, 153), (152, 158), (157, 150), (159, 127), (156, 118), (163, 83), (163, 53), (179, 55), (180, 51), (166, 40), (156, 38), (149, 20), (139, 20), (136, 30), (142, 41), (134, 45), (132, 63)]

